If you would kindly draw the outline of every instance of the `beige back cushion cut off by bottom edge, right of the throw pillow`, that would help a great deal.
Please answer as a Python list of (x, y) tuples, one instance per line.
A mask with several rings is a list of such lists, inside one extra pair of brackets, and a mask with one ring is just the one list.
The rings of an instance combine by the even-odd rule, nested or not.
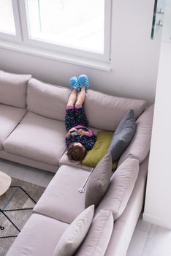
[(88, 234), (75, 256), (103, 256), (109, 244), (112, 232), (112, 211), (99, 211), (91, 223)]

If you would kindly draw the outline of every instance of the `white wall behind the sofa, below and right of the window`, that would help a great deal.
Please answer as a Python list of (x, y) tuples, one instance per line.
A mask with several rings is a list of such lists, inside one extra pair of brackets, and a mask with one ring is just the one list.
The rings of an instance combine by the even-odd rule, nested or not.
[(0, 48), (0, 68), (31, 73), (48, 83), (69, 86), (69, 78), (86, 73), (91, 89), (154, 101), (159, 45), (151, 40), (154, 0), (113, 0), (112, 71), (43, 59)]

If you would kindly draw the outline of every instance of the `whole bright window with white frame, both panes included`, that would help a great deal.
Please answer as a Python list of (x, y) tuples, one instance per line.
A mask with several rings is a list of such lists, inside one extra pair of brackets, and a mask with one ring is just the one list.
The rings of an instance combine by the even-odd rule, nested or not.
[(0, 0), (0, 37), (109, 61), (110, 4), (111, 0)]

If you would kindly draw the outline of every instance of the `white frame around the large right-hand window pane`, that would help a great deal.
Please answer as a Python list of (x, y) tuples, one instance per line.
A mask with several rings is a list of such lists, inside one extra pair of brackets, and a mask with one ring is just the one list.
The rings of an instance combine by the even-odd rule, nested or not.
[[(68, 55), (70, 57), (76, 56), (78, 58), (90, 59), (93, 61), (102, 61), (103, 63), (110, 63), (110, 27), (111, 27), (111, 1), (104, 0), (104, 53), (94, 53), (91, 51), (81, 50), (78, 48), (66, 47), (64, 45), (57, 45), (50, 42), (41, 41), (40, 39), (31, 39), (28, 28), (28, 15), (26, 11), (26, 0), (12, 0), (12, 7), (15, 18), (16, 36), (9, 34), (4, 35), (2, 39), (9, 41), (18, 41), (23, 46), (42, 50), (47, 50), (50, 53), (59, 53)], [(66, 58), (65, 58), (66, 59)]]

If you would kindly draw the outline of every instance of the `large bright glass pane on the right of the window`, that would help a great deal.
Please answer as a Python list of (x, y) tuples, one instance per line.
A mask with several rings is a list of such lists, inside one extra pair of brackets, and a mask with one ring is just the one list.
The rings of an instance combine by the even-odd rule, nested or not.
[(104, 52), (104, 0), (26, 2), (32, 39)]

